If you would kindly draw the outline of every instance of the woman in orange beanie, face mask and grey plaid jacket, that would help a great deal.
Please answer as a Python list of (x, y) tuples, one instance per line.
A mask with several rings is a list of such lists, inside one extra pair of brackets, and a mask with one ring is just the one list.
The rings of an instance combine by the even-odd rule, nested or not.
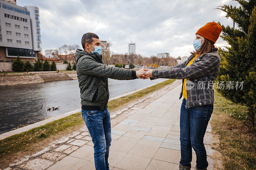
[(214, 103), (214, 80), (220, 68), (220, 56), (214, 43), (222, 28), (210, 22), (196, 32), (193, 42), (196, 51), (185, 62), (162, 70), (148, 70), (144, 78), (183, 79), (180, 98), (180, 170), (190, 170), (192, 147), (196, 152), (196, 169), (206, 170), (207, 155), (204, 134), (212, 115)]

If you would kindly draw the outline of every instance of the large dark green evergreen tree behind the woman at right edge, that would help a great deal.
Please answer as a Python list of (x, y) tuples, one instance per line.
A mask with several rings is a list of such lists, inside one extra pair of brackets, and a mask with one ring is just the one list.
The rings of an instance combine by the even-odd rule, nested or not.
[[(217, 81), (225, 81), (226, 86), (218, 91), (235, 103), (247, 105), (249, 126), (254, 127), (256, 112), (256, 1), (236, 1), (240, 4), (239, 7), (223, 5), (218, 8), (226, 12), (238, 25), (238, 29), (221, 25), (223, 29), (221, 38), (227, 41), (231, 47), (219, 50), (221, 66)], [(233, 89), (227, 88), (227, 83), (231, 83), (231, 85), (234, 83)], [(236, 88), (236, 84), (238, 84), (238, 88)]]

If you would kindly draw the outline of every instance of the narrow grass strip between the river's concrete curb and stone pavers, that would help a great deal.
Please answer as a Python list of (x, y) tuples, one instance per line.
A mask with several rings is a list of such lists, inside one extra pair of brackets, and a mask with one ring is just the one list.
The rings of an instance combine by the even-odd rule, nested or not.
[[(108, 108), (111, 111), (114, 108), (119, 107), (123, 104), (127, 104), (127, 102), (130, 102), (138, 97), (142, 97), (150, 92), (160, 89), (165, 85), (172, 83), (173, 81), (173, 79), (166, 80), (164, 82), (156, 84), (152, 87), (148, 87), (147, 89), (141, 90), (134, 94), (112, 100), (109, 102)], [(45, 138), (49, 138), (60, 131), (66, 130), (68, 127), (77, 124), (82, 124), (83, 122), (84, 120), (81, 117), (81, 112), (78, 112), (68, 117), (55, 120), (48, 124), (0, 140), (0, 159), (3, 159), (5, 156), (8, 156), (12, 153), (25, 150), (31, 144), (42, 141)]]

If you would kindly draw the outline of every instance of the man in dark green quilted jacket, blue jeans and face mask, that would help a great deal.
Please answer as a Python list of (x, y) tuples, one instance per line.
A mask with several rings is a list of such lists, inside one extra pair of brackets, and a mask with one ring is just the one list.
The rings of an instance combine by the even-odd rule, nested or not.
[(104, 64), (100, 40), (94, 33), (84, 34), (81, 43), (84, 50), (76, 50), (76, 74), (81, 94), (81, 113), (94, 144), (95, 168), (109, 170), (111, 126), (108, 111), (108, 78), (133, 80), (145, 74), (146, 71), (109, 67)]

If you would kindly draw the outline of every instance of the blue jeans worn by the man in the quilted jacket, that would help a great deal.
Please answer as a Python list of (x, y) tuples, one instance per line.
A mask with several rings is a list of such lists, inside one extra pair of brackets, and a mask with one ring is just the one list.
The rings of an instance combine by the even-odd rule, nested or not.
[(108, 153), (111, 143), (111, 125), (108, 109), (81, 111), (92, 137), (96, 170), (109, 170)]

